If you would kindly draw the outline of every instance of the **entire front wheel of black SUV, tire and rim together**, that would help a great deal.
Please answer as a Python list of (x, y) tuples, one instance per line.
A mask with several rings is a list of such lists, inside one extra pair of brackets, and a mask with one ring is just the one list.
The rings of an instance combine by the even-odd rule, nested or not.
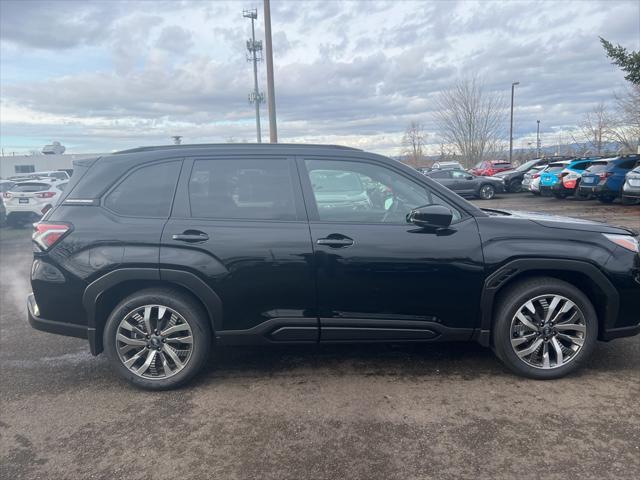
[[(545, 320), (542, 317), (548, 310), (543, 308), (544, 302), (549, 308), (554, 298), (560, 300), (550, 320), (557, 321), (542, 329), (536, 322)], [(535, 307), (535, 314), (526, 307), (527, 303)], [(538, 331), (526, 327), (516, 317), (523, 309), (525, 319)], [(573, 316), (576, 312), (577, 317)], [(598, 338), (598, 318), (589, 299), (570, 283), (551, 277), (531, 278), (507, 287), (499, 298), (494, 319), (493, 348), (498, 358), (518, 375), (536, 380), (564, 377), (580, 368)], [(568, 328), (573, 326), (576, 330)], [(532, 352), (526, 355), (529, 350)], [(561, 356), (556, 353), (558, 350)]]

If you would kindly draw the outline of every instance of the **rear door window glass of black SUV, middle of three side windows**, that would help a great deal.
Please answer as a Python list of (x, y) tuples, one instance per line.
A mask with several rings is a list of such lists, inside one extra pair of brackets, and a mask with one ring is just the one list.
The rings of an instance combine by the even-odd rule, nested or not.
[(196, 160), (189, 180), (191, 216), (296, 220), (287, 159)]

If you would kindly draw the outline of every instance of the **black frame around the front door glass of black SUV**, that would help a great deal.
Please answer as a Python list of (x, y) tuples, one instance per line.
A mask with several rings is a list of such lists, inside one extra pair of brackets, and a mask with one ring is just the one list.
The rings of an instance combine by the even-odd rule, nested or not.
[[(428, 190), (429, 192), (431, 192), (433, 195), (436, 195), (437, 197), (439, 197), (440, 199), (442, 199), (442, 201), (444, 201), (445, 203), (447, 203), (451, 208), (455, 208), (458, 213), (460, 214), (460, 218), (454, 222), (451, 222), (451, 225), (456, 225), (460, 222), (465, 221), (467, 218), (472, 217), (472, 215), (465, 209), (462, 208), (460, 205), (457, 205), (456, 203), (452, 202), (450, 199), (446, 198), (444, 195), (442, 195), (440, 192), (438, 192), (437, 190), (431, 188), (430, 185), (428, 185), (427, 183), (423, 183), (421, 181), (418, 181), (415, 178), (412, 178), (410, 175), (407, 175), (406, 172), (403, 172), (401, 169), (396, 168), (394, 165), (390, 165), (386, 162), (381, 162), (381, 161), (377, 161), (376, 159), (373, 158), (363, 158), (363, 157), (356, 157), (356, 156), (348, 156), (348, 155), (336, 155), (335, 157), (330, 157), (330, 156), (315, 156), (315, 155), (300, 155), (296, 157), (296, 163), (298, 165), (298, 170), (299, 170), (299, 174), (300, 174), (300, 183), (302, 185), (302, 193), (304, 195), (304, 201), (305, 201), (305, 206), (307, 209), (307, 215), (309, 218), (309, 223), (310, 224), (325, 224), (325, 225), (385, 225), (385, 226), (394, 226), (394, 227), (398, 227), (398, 226), (410, 226), (410, 223), (403, 223), (403, 222), (397, 222), (397, 223), (381, 223), (381, 222), (358, 222), (358, 221), (338, 221), (338, 220), (321, 220), (320, 219), (320, 214), (318, 213), (318, 206), (316, 205), (316, 199), (315, 199), (315, 195), (313, 193), (313, 188), (311, 186), (311, 180), (309, 178), (309, 171), (307, 170), (307, 165), (306, 165), (306, 161), (307, 160), (324, 160), (324, 161), (329, 161), (329, 162), (357, 162), (357, 163), (365, 163), (365, 164), (369, 164), (369, 165), (374, 165), (374, 166), (378, 166), (381, 168), (386, 168), (388, 170), (391, 170), (392, 172), (404, 177), (406, 180), (408, 180), (409, 182), (415, 184), (416, 186), (420, 186), (422, 188), (424, 188), (425, 190)], [(435, 180), (430, 179), (432, 182), (437, 183)], [(443, 187), (446, 188), (446, 187)]]

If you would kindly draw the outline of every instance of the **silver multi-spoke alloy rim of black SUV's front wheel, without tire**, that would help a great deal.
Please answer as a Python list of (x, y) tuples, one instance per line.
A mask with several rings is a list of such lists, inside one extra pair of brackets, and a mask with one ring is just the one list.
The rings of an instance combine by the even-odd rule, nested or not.
[(586, 335), (584, 314), (561, 295), (540, 295), (528, 300), (511, 320), (513, 351), (526, 364), (544, 370), (572, 361)]

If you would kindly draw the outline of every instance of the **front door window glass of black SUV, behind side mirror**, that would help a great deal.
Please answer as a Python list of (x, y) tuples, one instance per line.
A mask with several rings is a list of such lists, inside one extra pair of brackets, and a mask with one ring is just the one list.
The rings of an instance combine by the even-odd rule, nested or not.
[(406, 223), (423, 205), (445, 205), (460, 212), (426, 187), (393, 170), (363, 162), (306, 160), (319, 220), (350, 223)]

